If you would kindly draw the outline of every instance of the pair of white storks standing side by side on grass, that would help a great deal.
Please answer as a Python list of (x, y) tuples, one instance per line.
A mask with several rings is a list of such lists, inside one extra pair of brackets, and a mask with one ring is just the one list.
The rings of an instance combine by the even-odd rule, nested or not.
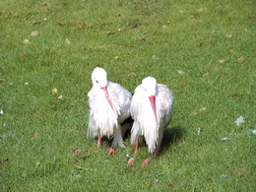
[[(93, 88), (89, 92), (90, 119), (88, 136), (97, 137), (97, 146), (101, 137), (113, 137), (108, 156), (114, 156), (116, 147), (125, 147), (123, 133), (130, 116), (134, 122), (131, 129), (131, 144), (138, 153), (139, 136), (144, 136), (151, 154), (158, 155), (163, 135), (163, 128), (170, 121), (173, 96), (170, 90), (158, 84), (153, 77), (147, 77), (130, 92), (119, 84), (107, 81), (106, 71), (96, 67), (92, 73)], [(143, 162), (143, 166), (150, 159)], [(133, 164), (133, 159), (128, 164)]]

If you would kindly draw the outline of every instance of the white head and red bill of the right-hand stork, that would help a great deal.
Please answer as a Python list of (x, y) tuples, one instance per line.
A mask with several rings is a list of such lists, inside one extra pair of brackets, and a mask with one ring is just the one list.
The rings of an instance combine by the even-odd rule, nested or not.
[(158, 122), (158, 115), (157, 115), (157, 108), (156, 108), (156, 96), (158, 92), (157, 80), (153, 77), (147, 77), (142, 81), (142, 86), (145, 90), (145, 94), (150, 99), (156, 122)]

